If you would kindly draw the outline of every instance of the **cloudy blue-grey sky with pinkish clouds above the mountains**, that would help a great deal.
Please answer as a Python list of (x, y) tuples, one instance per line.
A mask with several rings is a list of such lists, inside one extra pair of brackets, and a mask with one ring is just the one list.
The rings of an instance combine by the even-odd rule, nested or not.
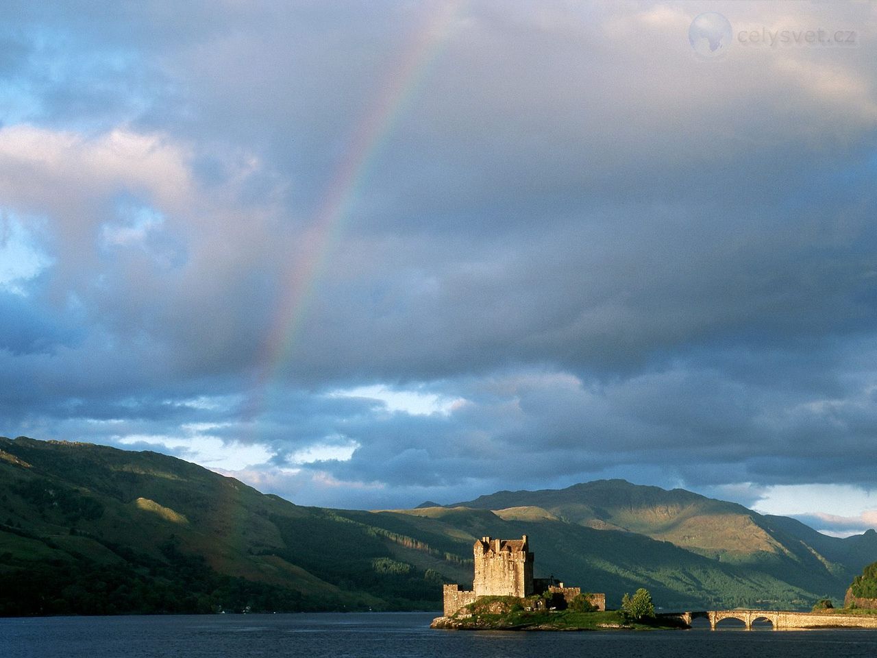
[(0, 434), (296, 504), (877, 526), (868, 3), (5, 0)]

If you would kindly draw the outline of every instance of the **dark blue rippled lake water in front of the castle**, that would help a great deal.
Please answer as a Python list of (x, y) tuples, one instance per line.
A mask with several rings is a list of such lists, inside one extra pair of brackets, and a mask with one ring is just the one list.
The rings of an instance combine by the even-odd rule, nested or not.
[(433, 631), (431, 613), (0, 619), (0, 658), (874, 658), (877, 631)]

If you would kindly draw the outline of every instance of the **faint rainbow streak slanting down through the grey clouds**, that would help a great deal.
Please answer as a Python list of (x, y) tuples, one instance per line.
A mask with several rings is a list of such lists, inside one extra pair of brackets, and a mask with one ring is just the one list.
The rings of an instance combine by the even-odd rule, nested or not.
[(282, 276), (282, 297), (277, 304), (264, 354), (259, 360), (262, 366), (253, 389), (254, 397), (247, 404), (247, 420), (252, 422), (261, 411), (265, 411), (272, 386), (280, 378), (282, 368), (292, 360), (316, 284), (344, 234), (351, 208), (399, 118), (411, 100), (417, 97), (463, 2), (446, 0), (431, 5), (434, 9), (424, 20), (424, 28), (415, 39), (411, 39), (405, 54), (398, 59), (396, 69), (381, 85), (382, 92), (371, 111), (353, 132), (346, 157), (332, 177), (310, 228), (300, 236), (302, 254)]

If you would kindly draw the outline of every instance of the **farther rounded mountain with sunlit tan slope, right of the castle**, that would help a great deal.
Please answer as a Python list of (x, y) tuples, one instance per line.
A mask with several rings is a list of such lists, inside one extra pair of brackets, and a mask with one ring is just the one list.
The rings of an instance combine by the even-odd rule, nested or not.
[(839, 598), (842, 583), (877, 555), (877, 533), (845, 539), (817, 533), (800, 521), (761, 515), (743, 505), (690, 491), (600, 480), (563, 490), (499, 491), (450, 505), (490, 509), (501, 517), (526, 510), (535, 519), (614, 530), (667, 541), (722, 564), (760, 573), (799, 591)]

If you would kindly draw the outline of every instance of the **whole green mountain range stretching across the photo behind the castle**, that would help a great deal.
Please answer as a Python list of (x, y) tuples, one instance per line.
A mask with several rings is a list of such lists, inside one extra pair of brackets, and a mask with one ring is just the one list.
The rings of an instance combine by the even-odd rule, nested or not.
[[(877, 533), (840, 540), (620, 480), (413, 510), (303, 507), (164, 454), (0, 438), (0, 614), (438, 609), (476, 537), (530, 536), (537, 576), (665, 608), (841, 600)], [(614, 602), (614, 603), (613, 603)]]

